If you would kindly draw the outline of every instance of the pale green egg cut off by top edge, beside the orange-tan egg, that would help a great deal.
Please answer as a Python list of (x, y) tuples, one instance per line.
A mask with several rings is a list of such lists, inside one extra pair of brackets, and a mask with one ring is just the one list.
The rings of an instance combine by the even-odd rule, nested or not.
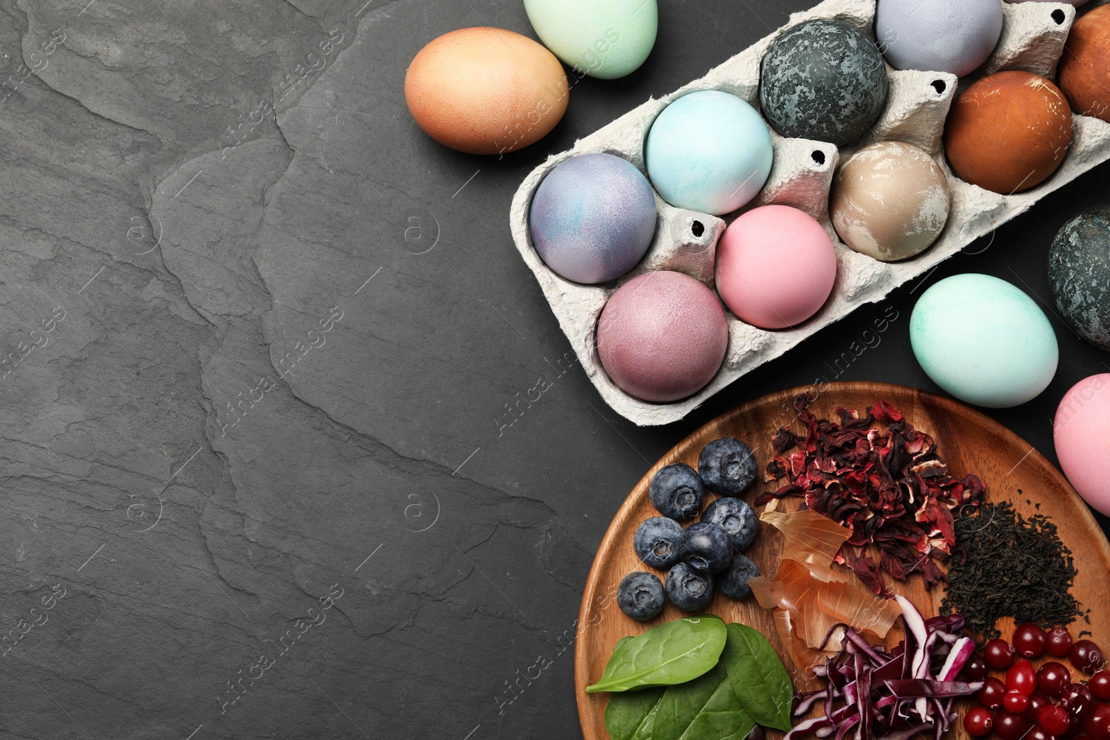
[(656, 0), (524, 0), (524, 9), (552, 53), (602, 80), (638, 69), (659, 28)]

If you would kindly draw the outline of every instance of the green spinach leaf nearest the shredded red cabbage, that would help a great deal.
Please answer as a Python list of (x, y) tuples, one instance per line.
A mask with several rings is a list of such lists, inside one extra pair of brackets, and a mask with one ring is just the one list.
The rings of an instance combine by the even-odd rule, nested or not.
[(775, 648), (746, 625), (728, 626), (728, 681), (740, 706), (756, 723), (789, 731), (794, 685)]

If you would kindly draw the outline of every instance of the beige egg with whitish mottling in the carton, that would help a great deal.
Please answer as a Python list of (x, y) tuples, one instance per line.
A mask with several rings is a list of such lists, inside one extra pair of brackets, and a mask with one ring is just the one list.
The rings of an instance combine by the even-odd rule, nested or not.
[(882, 262), (929, 249), (945, 229), (948, 211), (945, 173), (925, 151), (900, 141), (852, 154), (829, 194), (829, 215), (841, 241)]

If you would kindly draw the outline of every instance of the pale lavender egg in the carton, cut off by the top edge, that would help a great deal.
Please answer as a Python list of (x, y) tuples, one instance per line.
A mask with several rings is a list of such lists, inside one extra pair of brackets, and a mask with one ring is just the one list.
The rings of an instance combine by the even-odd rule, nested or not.
[(963, 77), (987, 61), (1002, 34), (998, 0), (879, 0), (875, 38), (899, 70)]

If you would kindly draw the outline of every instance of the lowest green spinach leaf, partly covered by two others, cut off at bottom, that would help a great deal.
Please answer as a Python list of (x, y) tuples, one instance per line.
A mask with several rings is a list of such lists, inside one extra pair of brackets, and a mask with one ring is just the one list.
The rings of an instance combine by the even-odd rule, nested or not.
[(667, 687), (652, 728), (652, 740), (744, 740), (756, 722), (740, 706), (728, 680), (735, 647), (726, 645), (707, 673)]

